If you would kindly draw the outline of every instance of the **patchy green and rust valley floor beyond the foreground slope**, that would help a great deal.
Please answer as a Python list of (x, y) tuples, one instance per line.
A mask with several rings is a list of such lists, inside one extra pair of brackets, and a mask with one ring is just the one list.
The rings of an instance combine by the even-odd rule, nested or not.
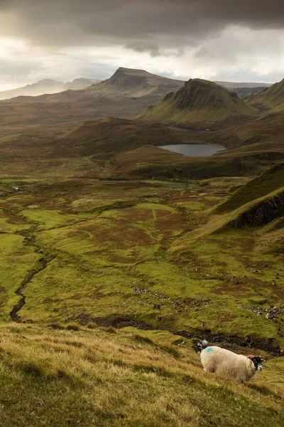
[[(280, 245), (280, 220), (248, 235), (224, 228), (236, 212), (212, 213), (238, 182), (244, 179), (173, 188), (65, 179), (37, 181), (7, 196), (1, 201), (5, 215), (25, 227), (2, 235), (24, 248), (15, 263), (16, 281), (5, 275), (14, 246), (2, 255), (9, 293), (2, 300), (3, 318), (19, 300), (15, 290), (44, 256), (50, 262), (23, 289), (26, 303), (18, 313), (23, 321), (112, 325), (114, 319), (116, 325), (116, 319), (125, 319), (125, 326), (143, 322), (197, 336), (211, 330), (243, 340), (253, 334), (263, 343), (273, 338), (281, 344), (280, 319), (266, 320), (266, 312), (253, 311), (260, 303), (265, 310), (280, 305), (283, 298), (281, 254), (268, 251), (272, 241)], [(259, 273), (253, 273), (253, 263)], [(277, 286), (271, 287), (278, 271)]]

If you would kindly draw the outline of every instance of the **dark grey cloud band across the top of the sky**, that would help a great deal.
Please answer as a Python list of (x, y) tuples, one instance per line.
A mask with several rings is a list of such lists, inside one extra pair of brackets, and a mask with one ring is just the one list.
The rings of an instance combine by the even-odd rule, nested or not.
[(230, 24), (283, 28), (283, 16), (283, 0), (4, 0), (0, 33), (45, 46), (122, 43), (156, 56)]

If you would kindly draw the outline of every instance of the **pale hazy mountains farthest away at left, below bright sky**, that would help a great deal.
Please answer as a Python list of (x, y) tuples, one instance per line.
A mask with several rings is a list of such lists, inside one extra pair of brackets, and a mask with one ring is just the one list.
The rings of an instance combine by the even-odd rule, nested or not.
[(75, 78), (72, 82), (63, 83), (58, 80), (45, 78), (39, 80), (37, 83), (23, 86), (23, 88), (16, 88), (11, 90), (4, 90), (0, 92), (0, 100), (11, 99), (17, 96), (37, 96), (44, 93), (59, 93), (64, 90), (84, 89), (101, 82), (102, 80), (90, 78)]

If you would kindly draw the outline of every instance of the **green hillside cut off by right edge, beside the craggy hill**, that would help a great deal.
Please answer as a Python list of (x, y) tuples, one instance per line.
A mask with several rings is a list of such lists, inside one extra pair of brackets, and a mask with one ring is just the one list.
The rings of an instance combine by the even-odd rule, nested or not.
[[(283, 107), (280, 105), (283, 104)], [(284, 79), (279, 83), (275, 83), (271, 88), (259, 93), (249, 100), (249, 105), (258, 108), (261, 111), (272, 110), (278, 108), (278, 112), (284, 111)]]

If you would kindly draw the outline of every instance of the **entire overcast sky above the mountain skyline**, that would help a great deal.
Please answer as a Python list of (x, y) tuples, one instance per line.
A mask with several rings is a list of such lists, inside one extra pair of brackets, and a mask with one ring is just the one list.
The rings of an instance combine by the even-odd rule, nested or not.
[(108, 78), (284, 78), (284, 0), (0, 0), (0, 90)]

